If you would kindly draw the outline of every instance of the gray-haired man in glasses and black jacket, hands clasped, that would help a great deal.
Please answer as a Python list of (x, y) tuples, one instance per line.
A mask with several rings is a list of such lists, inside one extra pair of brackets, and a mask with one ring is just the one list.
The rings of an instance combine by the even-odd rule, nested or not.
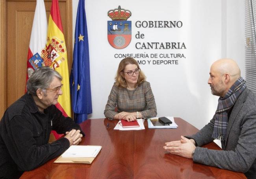
[[(0, 178), (18, 178), (82, 140), (80, 126), (55, 106), (62, 95), (61, 80), (55, 70), (38, 68), (27, 81), (27, 93), (4, 113), (0, 121)], [(52, 130), (65, 137), (49, 144)]]

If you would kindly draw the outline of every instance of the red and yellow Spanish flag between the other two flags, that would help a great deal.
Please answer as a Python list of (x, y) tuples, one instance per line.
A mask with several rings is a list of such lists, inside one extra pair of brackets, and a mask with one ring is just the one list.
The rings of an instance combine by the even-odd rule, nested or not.
[(52, 0), (52, 7), (48, 22), (46, 48), (42, 52), (45, 66), (50, 66), (63, 77), (63, 94), (58, 98), (58, 109), (64, 116), (71, 116), (69, 69), (67, 48), (65, 44), (58, 0)]

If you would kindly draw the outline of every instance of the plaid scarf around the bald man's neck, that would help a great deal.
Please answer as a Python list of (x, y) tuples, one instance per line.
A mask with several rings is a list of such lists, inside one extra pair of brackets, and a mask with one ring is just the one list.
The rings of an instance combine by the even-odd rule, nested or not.
[[(230, 87), (226, 95), (219, 98), (218, 107), (215, 112), (215, 123), (212, 138), (226, 140), (226, 129), (228, 125), (228, 111), (236, 103), (237, 98), (246, 88), (245, 80), (240, 77)], [(214, 118), (214, 116), (213, 116)]]

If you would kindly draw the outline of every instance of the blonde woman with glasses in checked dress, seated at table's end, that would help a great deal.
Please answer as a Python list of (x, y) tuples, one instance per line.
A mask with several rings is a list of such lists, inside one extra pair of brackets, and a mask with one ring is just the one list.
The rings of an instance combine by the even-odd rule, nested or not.
[(155, 117), (156, 114), (156, 102), (150, 83), (146, 81), (139, 64), (130, 57), (122, 59), (104, 115), (109, 119), (134, 121), (136, 118)]

